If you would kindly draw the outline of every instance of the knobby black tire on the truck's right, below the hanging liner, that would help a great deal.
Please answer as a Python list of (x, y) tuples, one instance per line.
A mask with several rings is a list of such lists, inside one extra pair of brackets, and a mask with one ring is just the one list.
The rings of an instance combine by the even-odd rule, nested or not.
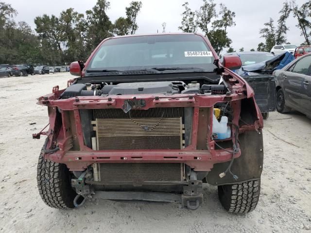
[(244, 214), (255, 210), (259, 194), (260, 180), (218, 186), (219, 200), (230, 213)]

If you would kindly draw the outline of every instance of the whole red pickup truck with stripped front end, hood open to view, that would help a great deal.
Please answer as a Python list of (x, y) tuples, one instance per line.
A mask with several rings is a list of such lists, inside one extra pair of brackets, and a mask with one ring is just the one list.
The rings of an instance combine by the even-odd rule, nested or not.
[(68, 87), (38, 98), (48, 130), (37, 166), (42, 200), (68, 209), (86, 199), (179, 203), (195, 210), (203, 183), (223, 207), (253, 211), (263, 165), (254, 91), (202, 34), (105, 39)]

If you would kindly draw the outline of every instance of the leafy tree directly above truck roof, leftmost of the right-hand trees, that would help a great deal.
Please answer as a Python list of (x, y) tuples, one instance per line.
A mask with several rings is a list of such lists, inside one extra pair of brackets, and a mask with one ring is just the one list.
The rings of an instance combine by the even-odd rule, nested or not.
[(195, 33), (198, 26), (197, 14), (191, 11), (187, 1), (183, 4), (183, 7), (185, 11), (182, 13), (181, 26), (179, 26), (178, 29), (184, 33)]

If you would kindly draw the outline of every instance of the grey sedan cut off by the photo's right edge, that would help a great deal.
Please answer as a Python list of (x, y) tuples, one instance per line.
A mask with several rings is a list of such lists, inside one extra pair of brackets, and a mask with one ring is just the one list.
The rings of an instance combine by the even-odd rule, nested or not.
[(291, 109), (311, 118), (311, 54), (295, 59), (274, 72), (276, 81), (276, 110)]

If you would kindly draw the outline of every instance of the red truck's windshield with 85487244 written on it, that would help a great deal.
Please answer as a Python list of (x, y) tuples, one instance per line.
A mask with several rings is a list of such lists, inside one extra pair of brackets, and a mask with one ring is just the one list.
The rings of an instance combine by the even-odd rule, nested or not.
[(212, 72), (214, 57), (199, 35), (148, 35), (113, 38), (96, 52), (87, 71), (200, 68)]

